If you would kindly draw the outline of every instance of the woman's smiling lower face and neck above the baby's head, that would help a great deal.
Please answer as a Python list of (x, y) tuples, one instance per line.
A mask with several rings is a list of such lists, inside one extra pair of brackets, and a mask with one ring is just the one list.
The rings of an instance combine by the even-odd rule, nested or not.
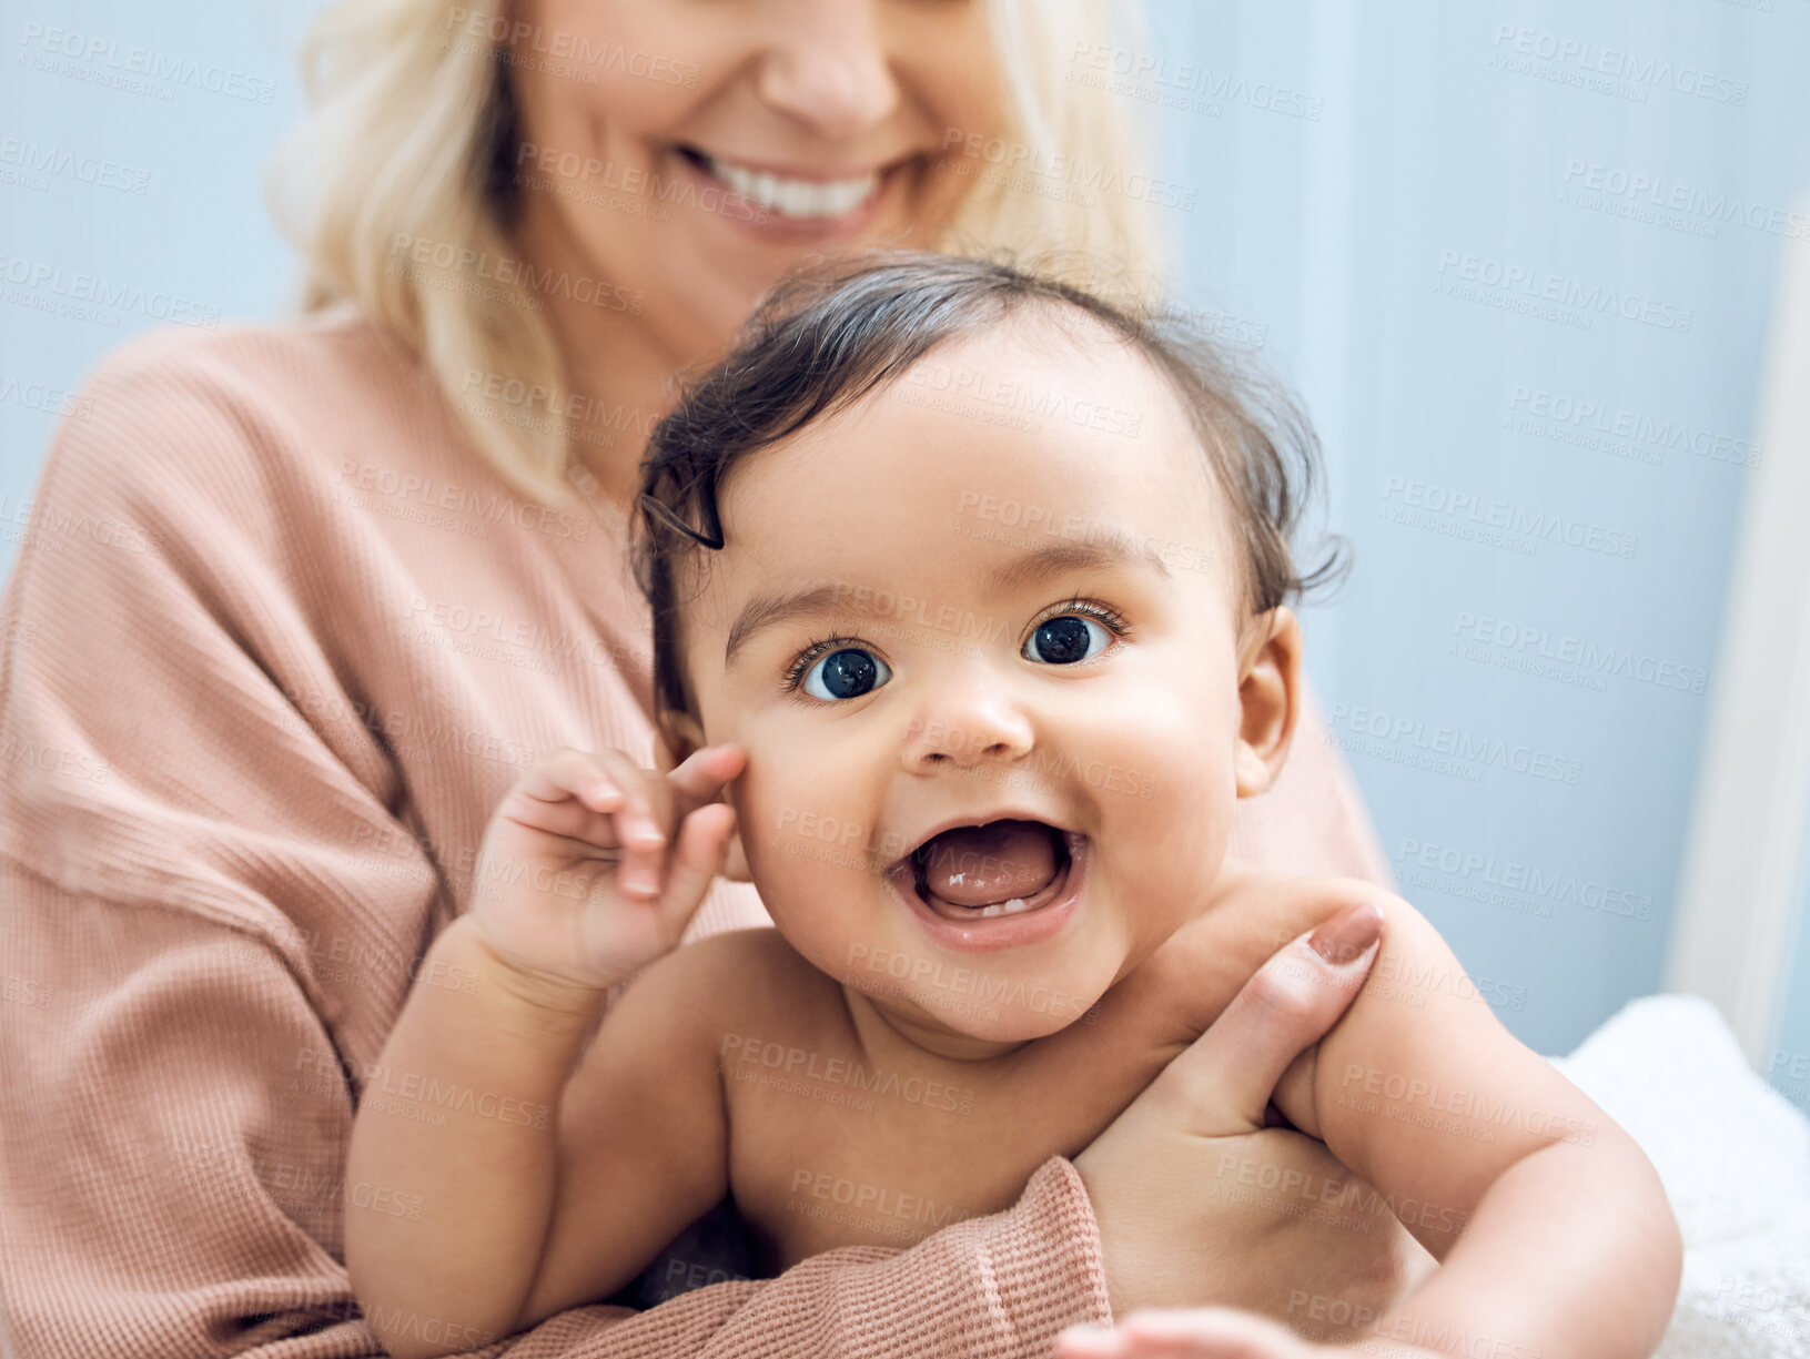
[(523, 0), (514, 16), (688, 76), (512, 67), (523, 143), (653, 185), (597, 201), (556, 183), (514, 228), (541, 268), (644, 293), (635, 317), (554, 308), (568, 349), (612, 355), (576, 376), (610, 407), (661, 411), (664, 375), (724, 344), (809, 252), (929, 244), (976, 188), (938, 154), (948, 128), (999, 128), (985, 5), (711, 5), (708, 24), (695, 9)]

